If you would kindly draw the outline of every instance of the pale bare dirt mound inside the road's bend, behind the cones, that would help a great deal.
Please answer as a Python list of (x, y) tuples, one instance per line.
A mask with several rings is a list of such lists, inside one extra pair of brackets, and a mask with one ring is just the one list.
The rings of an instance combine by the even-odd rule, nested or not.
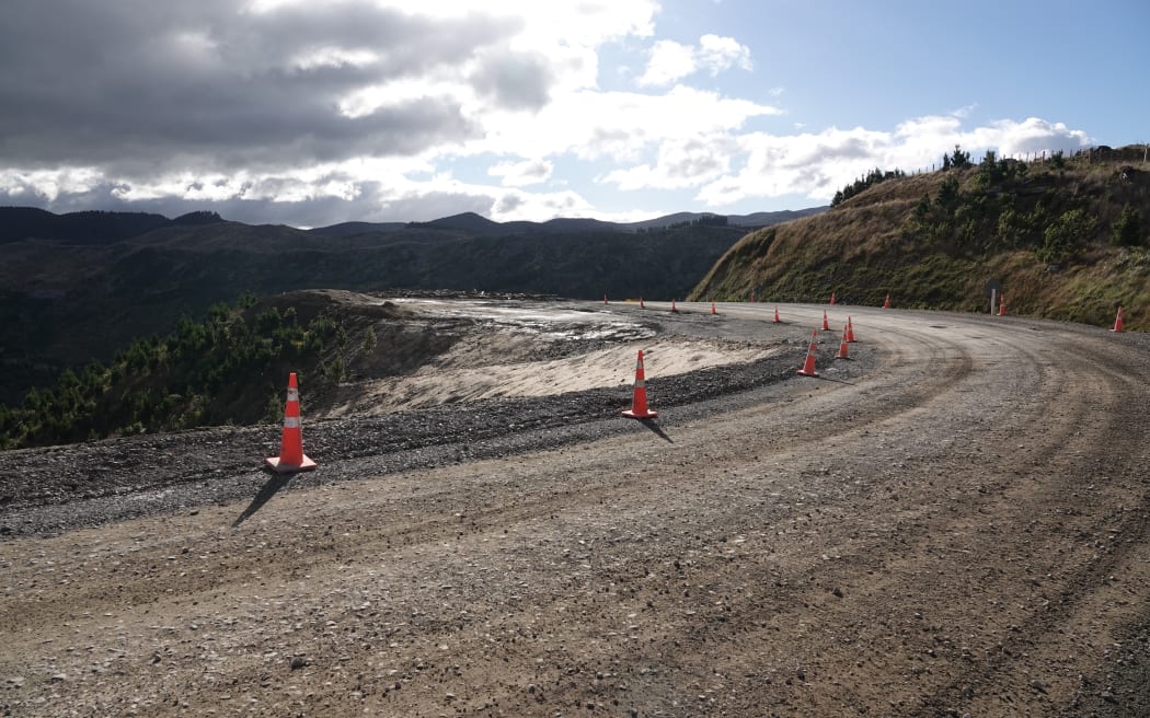
[(457, 298), (307, 293), (352, 326), (347, 377), (312, 397), (322, 418), (379, 416), (446, 403), (549, 396), (628, 385), (643, 349), (647, 371), (678, 375), (753, 362), (769, 347), (659, 335), (658, 322), (537, 303)]

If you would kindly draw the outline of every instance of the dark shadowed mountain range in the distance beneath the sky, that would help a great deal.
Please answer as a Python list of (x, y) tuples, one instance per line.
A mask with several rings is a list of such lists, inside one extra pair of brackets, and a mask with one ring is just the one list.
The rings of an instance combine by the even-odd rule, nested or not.
[(0, 207), (0, 402), (107, 361), (244, 292), (455, 289), (572, 299), (683, 298), (751, 229), (825, 208), (724, 217), (432, 222), (300, 230), (213, 213), (55, 215)]

